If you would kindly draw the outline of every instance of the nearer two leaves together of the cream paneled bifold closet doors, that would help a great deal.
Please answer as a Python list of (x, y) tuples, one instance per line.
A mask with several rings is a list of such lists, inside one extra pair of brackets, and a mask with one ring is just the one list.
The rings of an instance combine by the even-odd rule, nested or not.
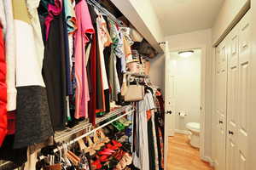
[[(227, 145), (226, 169), (247, 169), (247, 136), (250, 94), (250, 13), (228, 36)], [(221, 169), (222, 170), (222, 169)]]

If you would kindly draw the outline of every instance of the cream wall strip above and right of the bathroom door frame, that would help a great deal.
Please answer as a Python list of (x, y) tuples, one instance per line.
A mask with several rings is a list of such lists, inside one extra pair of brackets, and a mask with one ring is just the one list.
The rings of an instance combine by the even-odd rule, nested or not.
[[(212, 30), (194, 31), (184, 34), (166, 37), (172, 51), (181, 48), (197, 48), (205, 45), (206, 56), (206, 76), (205, 76), (205, 156), (212, 156)], [(164, 64), (163, 64), (164, 65)]]

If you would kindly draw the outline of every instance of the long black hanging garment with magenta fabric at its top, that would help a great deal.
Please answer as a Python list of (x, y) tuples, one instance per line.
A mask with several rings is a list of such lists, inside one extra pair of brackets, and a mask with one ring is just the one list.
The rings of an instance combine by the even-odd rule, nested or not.
[(38, 9), (45, 46), (43, 76), (54, 130), (64, 129), (67, 122), (66, 60), (61, 9), (61, 1), (51, 4), (44, 0)]

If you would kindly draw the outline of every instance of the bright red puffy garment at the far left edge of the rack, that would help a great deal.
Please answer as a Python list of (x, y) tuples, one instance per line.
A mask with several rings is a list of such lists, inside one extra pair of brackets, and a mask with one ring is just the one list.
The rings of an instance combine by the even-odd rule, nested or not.
[(3, 28), (0, 25), (0, 146), (7, 133), (7, 86)]

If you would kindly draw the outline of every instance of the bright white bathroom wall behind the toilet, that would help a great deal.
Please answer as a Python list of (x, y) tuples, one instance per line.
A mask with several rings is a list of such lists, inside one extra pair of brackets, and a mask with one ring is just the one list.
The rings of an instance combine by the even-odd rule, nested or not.
[[(177, 130), (187, 130), (188, 122), (200, 122), (201, 107), (201, 49), (195, 49), (189, 58), (181, 58), (177, 52), (171, 53), (171, 71), (175, 78), (176, 124)], [(181, 117), (183, 112), (187, 116)]]

